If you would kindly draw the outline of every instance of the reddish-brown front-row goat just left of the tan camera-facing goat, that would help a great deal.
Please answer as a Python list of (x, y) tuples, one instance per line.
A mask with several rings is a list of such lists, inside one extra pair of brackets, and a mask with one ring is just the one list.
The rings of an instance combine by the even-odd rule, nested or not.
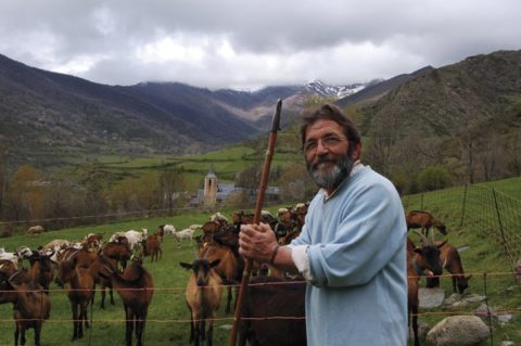
[(125, 345), (132, 345), (132, 331), (136, 330), (137, 345), (142, 346), (149, 305), (154, 295), (152, 275), (143, 268), (141, 259), (134, 259), (123, 275), (109, 261), (105, 269), (125, 308)]

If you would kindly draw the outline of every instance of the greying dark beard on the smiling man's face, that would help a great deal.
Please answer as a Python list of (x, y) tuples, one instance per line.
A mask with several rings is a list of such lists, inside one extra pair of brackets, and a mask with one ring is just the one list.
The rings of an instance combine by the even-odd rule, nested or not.
[[(329, 171), (321, 171), (317, 168), (321, 163), (334, 162), (334, 167)], [(315, 183), (326, 190), (336, 189), (345, 178), (347, 178), (353, 169), (353, 159), (348, 155), (341, 159), (320, 159), (317, 164), (307, 165), (307, 171), (312, 176)]]

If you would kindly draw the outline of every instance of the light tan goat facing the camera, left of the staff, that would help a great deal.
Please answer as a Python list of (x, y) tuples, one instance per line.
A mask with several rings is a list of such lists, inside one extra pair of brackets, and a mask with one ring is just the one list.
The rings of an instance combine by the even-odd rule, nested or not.
[[(180, 262), (182, 268), (192, 270), (187, 284), (187, 306), (190, 310), (190, 343), (194, 342), (195, 346), (200, 346), (204, 339), (207, 346), (212, 346), (213, 319), (223, 295), (220, 277), (214, 271), (219, 261), (195, 259), (191, 264)], [(208, 329), (205, 334), (206, 321)]]

